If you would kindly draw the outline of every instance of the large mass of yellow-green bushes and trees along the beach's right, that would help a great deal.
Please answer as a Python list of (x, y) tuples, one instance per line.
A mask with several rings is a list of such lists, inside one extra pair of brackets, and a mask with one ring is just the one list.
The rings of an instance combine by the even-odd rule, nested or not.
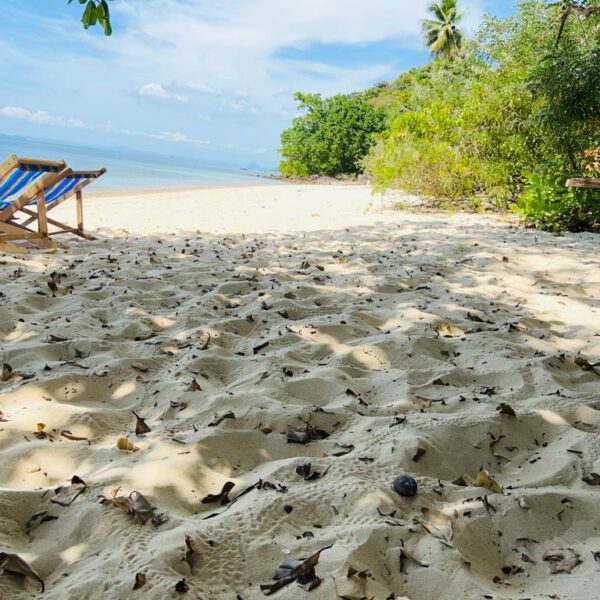
[(389, 119), (364, 161), (376, 187), (518, 203), (538, 227), (600, 227), (598, 192), (564, 187), (595, 174), (584, 157), (600, 146), (600, 11), (570, 15), (557, 44), (563, 15), (521, 0), (517, 16), (487, 17), (463, 56), (372, 90)]

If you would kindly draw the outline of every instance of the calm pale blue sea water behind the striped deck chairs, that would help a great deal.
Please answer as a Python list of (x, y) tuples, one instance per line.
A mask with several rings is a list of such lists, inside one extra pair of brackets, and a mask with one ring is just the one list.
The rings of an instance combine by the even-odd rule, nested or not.
[(10, 154), (46, 160), (63, 159), (74, 170), (106, 167), (107, 173), (93, 184), (95, 190), (147, 190), (274, 183), (258, 177), (258, 173), (235, 167), (207, 165), (194, 159), (0, 136), (0, 161)]

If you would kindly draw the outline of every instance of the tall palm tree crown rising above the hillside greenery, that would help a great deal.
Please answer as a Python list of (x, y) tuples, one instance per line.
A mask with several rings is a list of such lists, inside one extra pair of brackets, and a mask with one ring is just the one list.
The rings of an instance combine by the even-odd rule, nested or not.
[(458, 0), (434, 0), (427, 10), (434, 17), (423, 21), (423, 35), (433, 56), (453, 59), (460, 55), (465, 34), (458, 28), (463, 13), (458, 12)]

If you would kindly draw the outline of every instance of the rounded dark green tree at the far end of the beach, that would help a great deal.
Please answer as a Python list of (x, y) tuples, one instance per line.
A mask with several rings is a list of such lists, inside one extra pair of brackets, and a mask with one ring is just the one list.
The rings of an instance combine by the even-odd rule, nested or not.
[(322, 98), (297, 93), (305, 114), (281, 134), (279, 170), (285, 176), (356, 175), (361, 160), (383, 131), (385, 115), (364, 94)]

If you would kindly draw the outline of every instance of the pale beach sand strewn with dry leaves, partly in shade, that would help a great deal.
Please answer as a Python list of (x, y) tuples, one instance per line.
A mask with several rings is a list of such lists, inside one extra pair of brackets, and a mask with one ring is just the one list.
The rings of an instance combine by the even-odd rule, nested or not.
[[(0, 256), (0, 552), (44, 597), (264, 598), (329, 545), (319, 587), (273, 597), (596, 597), (598, 236), (370, 198), (92, 198), (97, 241)], [(133, 491), (156, 525), (101, 502)], [(568, 548), (583, 562), (551, 574)], [(2, 599), (39, 587), (0, 575)]]

